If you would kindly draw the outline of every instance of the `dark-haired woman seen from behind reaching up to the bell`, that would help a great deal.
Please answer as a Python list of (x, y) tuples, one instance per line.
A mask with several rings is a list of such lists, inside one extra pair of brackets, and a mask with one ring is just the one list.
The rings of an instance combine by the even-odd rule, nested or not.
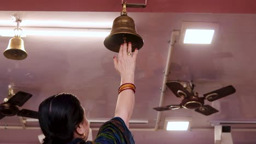
[(138, 50), (133, 55), (131, 52), (131, 43), (125, 43), (120, 46), (118, 58), (114, 56), (114, 67), (121, 77), (115, 116), (101, 126), (96, 139), (86, 142), (89, 123), (77, 97), (60, 93), (45, 99), (39, 106), (39, 124), (45, 144), (135, 143), (128, 128), (135, 103), (134, 74)]

